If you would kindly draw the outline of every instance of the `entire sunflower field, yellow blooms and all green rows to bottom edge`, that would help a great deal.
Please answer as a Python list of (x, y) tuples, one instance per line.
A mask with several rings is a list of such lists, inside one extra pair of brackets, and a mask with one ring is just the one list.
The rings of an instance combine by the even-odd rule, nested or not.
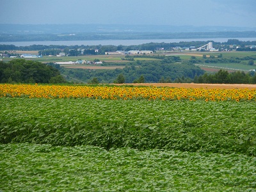
[(0, 84), (0, 191), (256, 191), (255, 93)]

